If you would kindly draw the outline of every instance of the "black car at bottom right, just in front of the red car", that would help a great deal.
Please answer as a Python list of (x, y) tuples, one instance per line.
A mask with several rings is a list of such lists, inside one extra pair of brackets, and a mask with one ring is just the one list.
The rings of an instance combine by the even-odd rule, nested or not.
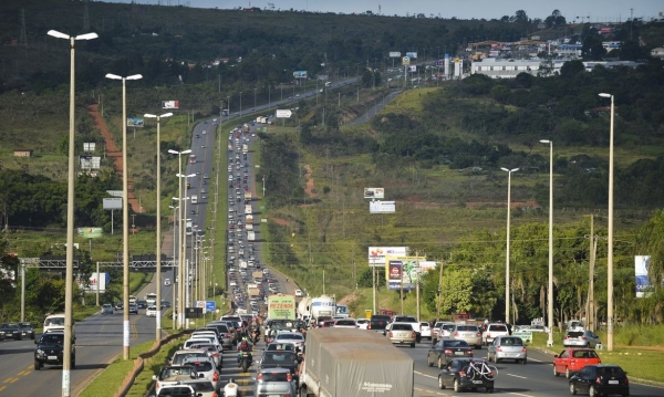
[(593, 396), (630, 395), (627, 374), (618, 365), (587, 365), (570, 378), (570, 394)]

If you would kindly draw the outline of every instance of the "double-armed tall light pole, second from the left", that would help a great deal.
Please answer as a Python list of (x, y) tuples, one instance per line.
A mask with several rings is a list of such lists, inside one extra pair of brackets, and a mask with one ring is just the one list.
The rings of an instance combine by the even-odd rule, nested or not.
[(129, 189), (127, 170), (127, 80), (143, 79), (141, 74), (122, 77), (108, 73), (106, 79), (122, 80), (122, 264), (123, 264), (123, 358), (129, 359)]

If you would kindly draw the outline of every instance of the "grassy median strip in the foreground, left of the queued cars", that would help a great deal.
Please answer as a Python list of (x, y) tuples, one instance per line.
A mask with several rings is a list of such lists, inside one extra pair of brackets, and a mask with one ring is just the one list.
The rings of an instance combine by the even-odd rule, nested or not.
[[(106, 369), (104, 369), (87, 387), (81, 391), (80, 397), (113, 397), (118, 387), (123, 384), (127, 374), (134, 368), (134, 359), (151, 349), (154, 341), (144, 342), (132, 346), (129, 349), (129, 359), (122, 357), (115, 359)], [(151, 374), (152, 376), (152, 374)]]

